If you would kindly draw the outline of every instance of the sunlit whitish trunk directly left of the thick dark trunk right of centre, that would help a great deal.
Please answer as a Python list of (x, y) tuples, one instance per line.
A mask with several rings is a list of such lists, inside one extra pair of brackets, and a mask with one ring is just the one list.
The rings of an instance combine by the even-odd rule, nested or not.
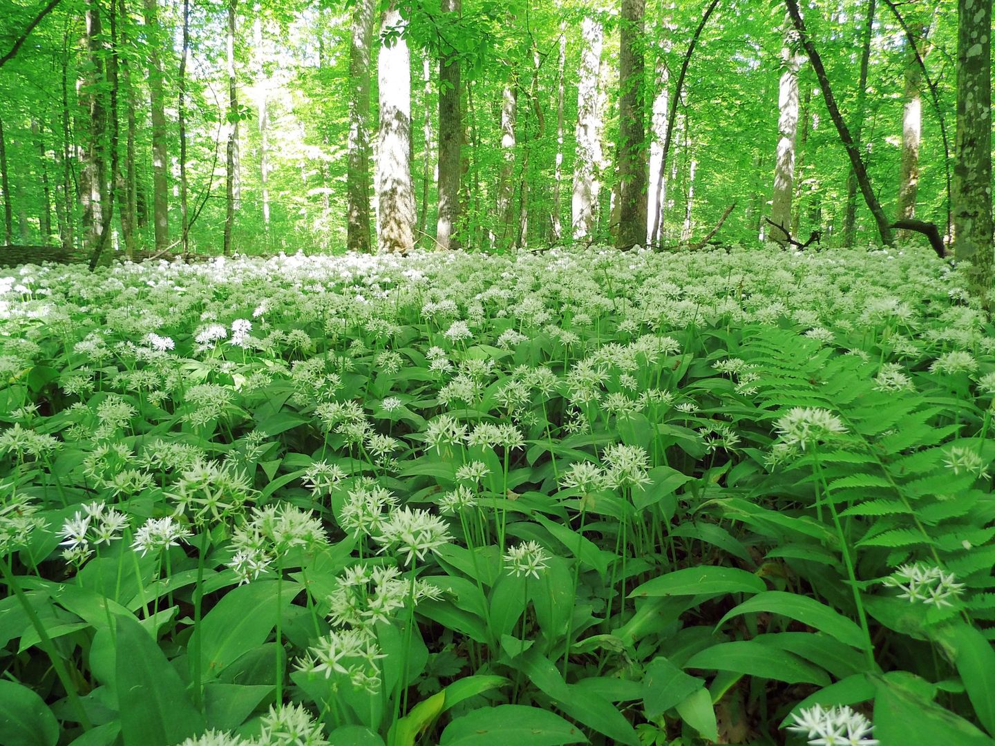
[(598, 70), (604, 29), (599, 21), (585, 18), (581, 25), (581, 50), (577, 84), (577, 157), (573, 170), (573, 199), (570, 220), (573, 238), (584, 239), (593, 230), (598, 215), (601, 183), (601, 112), (598, 106)]

